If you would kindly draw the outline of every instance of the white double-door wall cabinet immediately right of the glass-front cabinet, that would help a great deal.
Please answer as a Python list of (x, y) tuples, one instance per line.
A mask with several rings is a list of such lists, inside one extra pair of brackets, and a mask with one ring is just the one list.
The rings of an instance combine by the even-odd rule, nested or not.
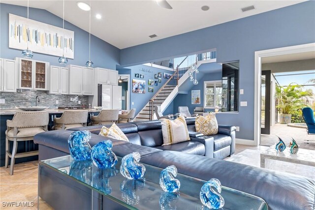
[(51, 94), (69, 93), (69, 69), (61, 66), (50, 66), (50, 89)]

